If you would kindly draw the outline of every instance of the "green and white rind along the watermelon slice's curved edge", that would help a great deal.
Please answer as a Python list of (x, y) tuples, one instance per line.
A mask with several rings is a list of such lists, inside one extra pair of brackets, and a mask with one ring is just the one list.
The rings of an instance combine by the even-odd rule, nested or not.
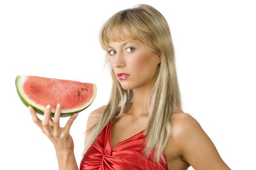
[[(46, 108), (45, 106), (41, 106), (43, 109), (40, 109), (36, 106), (36, 104), (33, 104), (32, 102), (28, 102), (21, 94), (20, 94), (20, 88), (19, 88), (19, 84), (20, 84), (20, 79), (21, 78), (25, 78), (27, 76), (21, 76), (21, 75), (18, 75), (16, 76), (16, 79), (15, 79), (15, 86), (16, 86), (16, 90), (17, 90), (17, 94), (21, 100), (21, 102), (26, 106), (32, 106), (35, 110), (36, 113), (40, 114), (40, 115), (44, 115), (44, 109)], [(93, 97), (91, 98), (90, 101), (88, 101), (86, 104), (88, 104), (87, 106), (85, 106), (85, 108), (81, 109), (81, 110), (77, 110), (77, 111), (71, 111), (71, 112), (66, 112), (66, 113), (62, 113), (63, 110), (61, 111), (61, 115), (60, 117), (69, 117), (69, 116), (72, 116), (73, 114), (75, 113), (80, 113), (81, 111), (85, 110), (87, 107), (89, 107), (91, 105), (91, 103), (94, 101), (95, 97), (96, 97), (96, 93), (97, 93), (97, 89), (96, 89), (96, 85), (94, 85), (94, 94), (93, 94)], [(85, 105), (86, 105), (85, 104)], [(51, 109), (51, 118), (54, 117), (54, 112), (55, 112), (55, 109), (52, 108)]]

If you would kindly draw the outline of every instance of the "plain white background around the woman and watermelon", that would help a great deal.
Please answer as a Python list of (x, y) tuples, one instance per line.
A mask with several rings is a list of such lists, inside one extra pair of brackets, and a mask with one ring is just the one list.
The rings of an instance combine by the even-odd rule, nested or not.
[[(184, 112), (197, 119), (232, 170), (255, 168), (253, 0), (1, 0), (1, 170), (58, 169), (51, 141), (17, 96), (17, 75), (97, 85), (95, 101), (70, 130), (79, 166), (87, 117), (106, 104), (110, 93), (111, 78), (103, 68), (99, 43), (101, 26), (138, 3), (154, 6), (169, 23)], [(61, 125), (67, 120), (61, 119)]]

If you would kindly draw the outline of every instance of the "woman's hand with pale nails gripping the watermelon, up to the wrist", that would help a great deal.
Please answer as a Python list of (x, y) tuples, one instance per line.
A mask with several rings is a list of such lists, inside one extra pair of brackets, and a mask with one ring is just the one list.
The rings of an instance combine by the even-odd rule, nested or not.
[[(58, 107), (59, 106), (59, 107)], [(65, 127), (60, 127), (60, 114), (61, 105), (57, 104), (56, 111), (54, 113), (54, 119), (52, 120), (51, 105), (48, 104), (44, 112), (43, 120), (40, 120), (32, 106), (28, 106), (34, 123), (41, 129), (41, 131), (51, 140), (56, 152), (57, 151), (70, 151), (74, 149), (74, 142), (69, 134), (69, 130), (73, 121), (77, 117), (77, 113), (70, 116)]]

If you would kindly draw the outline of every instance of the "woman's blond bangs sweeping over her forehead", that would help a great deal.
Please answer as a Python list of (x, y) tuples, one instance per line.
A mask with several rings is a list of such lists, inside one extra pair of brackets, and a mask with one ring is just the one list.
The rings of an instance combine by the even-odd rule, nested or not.
[(123, 41), (121, 36), (121, 33), (123, 33), (126, 37), (139, 40), (150, 50), (156, 51), (154, 22), (152, 21), (153, 18), (151, 16), (146, 17), (147, 15), (145, 11), (129, 9), (120, 11), (109, 18), (100, 32), (102, 48), (107, 51), (107, 46), (111, 41)]

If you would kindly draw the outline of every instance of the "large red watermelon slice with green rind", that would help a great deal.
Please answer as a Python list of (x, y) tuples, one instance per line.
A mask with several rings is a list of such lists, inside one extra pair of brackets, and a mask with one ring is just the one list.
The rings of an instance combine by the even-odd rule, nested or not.
[(43, 115), (51, 104), (52, 118), (57, 103), (61, 104), (60, 117), (68, 117), (87, 108), (96, 96), (95, 84), (71, 80), (18, 75), (15, 85), (21, 101), (33, 106), (36, 113)]

